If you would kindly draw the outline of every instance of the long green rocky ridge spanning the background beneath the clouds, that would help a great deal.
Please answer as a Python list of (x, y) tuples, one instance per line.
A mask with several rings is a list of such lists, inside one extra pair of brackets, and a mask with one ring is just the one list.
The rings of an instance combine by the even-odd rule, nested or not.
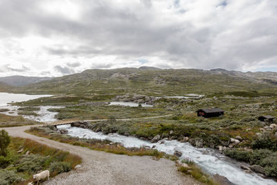
[(157, 69), (152, 67), (90, 69), (15, 91), (51, 94), (125, 94), (148, 96), (207, 94), (226, 91), (276, 91), (277, 73), (239, 72), (224, 69)]

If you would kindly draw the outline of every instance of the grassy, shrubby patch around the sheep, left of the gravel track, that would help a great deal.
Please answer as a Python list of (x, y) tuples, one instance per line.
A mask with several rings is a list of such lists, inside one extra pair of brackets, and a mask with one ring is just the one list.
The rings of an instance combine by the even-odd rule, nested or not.
[[(5, 131), (1, 131), (5, 132)], [(33, 181), (33, 175), (49, 170), (51, 177), (68, 172), (81, 163), (80, 157), (69, 152), (50, 148), (30, 139), (1, 134), (6, 142), (4, 153), (0, 154), (0, 184), (27, 184)], [(10, 143), (8, 142), (10, 141)], [(8, 144), (8, 145), (7, 145)]]

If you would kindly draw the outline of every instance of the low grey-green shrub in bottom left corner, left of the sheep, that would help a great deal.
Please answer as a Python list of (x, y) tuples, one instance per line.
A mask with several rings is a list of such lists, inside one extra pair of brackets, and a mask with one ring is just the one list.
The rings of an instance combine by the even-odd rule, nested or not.
[(1, 185), (15, 184), (16, 182), (20, 182), (21, 179), (15, 170), (0, 170)]

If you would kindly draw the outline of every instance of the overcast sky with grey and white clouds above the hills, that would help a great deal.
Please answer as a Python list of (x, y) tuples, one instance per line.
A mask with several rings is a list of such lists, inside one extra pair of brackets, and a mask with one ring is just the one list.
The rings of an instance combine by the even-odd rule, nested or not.
[(277, 0), (1, 0), (0, 76), (277, 71)]

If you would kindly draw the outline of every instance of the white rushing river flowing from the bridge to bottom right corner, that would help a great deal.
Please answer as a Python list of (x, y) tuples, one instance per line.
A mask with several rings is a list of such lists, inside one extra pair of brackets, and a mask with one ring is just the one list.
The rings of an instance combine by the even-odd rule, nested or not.
[(196, 164), (202, 167), (207, 173), (219, 174), (227, 177), (231, 182), (241, 185), (269, 185), (277, 184), (272, 179), (264, 179), (256, 173), (245, 173), (240, 169), (240, 162), (233, 161), (224, 155), (221, 155), (216, 150), (209, 148), (195, 148), (190, 143), (181, 143), (176, 140), (165, 141), (165, 143), (150, 143), (132, 136), (123, 136), (120, 134), (102, 134), (101, 132), (93, 132), (88, 129), (80, 127), (71, 127), (71, 125), (57, 126), (59, 129), (66, 129), (70, 136), (86, 139), (107, 139), (112, 142), (122, 143), (126, 148), (141, 147), (141, 146), (155, 146), (157, 150), (173, 155), (175, 150), (183, 153), (181, 158), (189, 157)]

